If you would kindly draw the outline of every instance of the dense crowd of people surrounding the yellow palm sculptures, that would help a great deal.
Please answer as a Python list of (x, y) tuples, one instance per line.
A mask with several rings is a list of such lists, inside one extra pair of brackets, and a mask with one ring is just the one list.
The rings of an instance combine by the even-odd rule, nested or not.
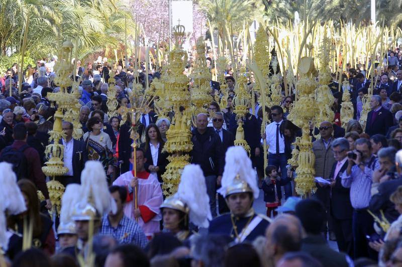
[[(208, 53), (208, 66), (214, 72), (214, 59)], [(54, 80), (57, 57), (38, 60), (37, 66), (28, 66), (23, 73), (14, 64), (0, 79), (0, 162), (11, 164), (26, 211), (8, 214), (6, 260), (13, 266), (77, 266), (80, 257), (93, 253), (96, 266), (399, 266), (402, 69), (400, 57), (394, 55), (400, 55), (398, 49), (388, 51), (385, 64), (389, 66), (375, 77), (366, 75), (364, 64), (356, 68), (347, 64), (342, 75), (349, 87), (339, 86), (333, 74), (329, 88), (335, 98), (334, 119), (321, 121), (318, 127), (311, 125), (315, 176), (322, 179), (317, 180), (317, 190), (303, 200), (296, 197), (297, 177), (288, 164), (297, 149), (293, 143), (302, 135), (286, 119), (294, 95), (285, 96), (283, 91), (280, 103), (265, 110), (256, 95), (255, 109), (250, 107), (245, 117), (238, 118), (233, 102), (236, 82), (229, 66), (225, 77), (229, 93), (220, 91), (219, 83), (211, 83), (208, 112), (194, 114), (191, 126), (191, 165), (183, 171), (178, 192), (166, 197), (161, 186), (169, 163), (163, 148), (170, 118), (158, 117), (151, 103), (150, 111), (139, 115), (138, 132), (143, 138), (133, 152), (130, 117), (110, 117), (107, 106), (112, 69), (117, 108), (130, 107), (136, 74), (146, 88), (145, 83), (152, 83), (160, 73), (149, 71), (147, 77), (144, 62), (138, 62), (135, 73), (133, 59), (126, 68), (122, 61), (114, 66), (106, 58), (85, 66), (78, 60), (74, 63), (84, 134), (74, 139), (73, 123), (62, 122), (65, 138), (59, 144), (68, 171), (55, 179), (66, 187), (62, 203), (77, 198), (77, 192), (92, 193), (88, 193), (90, 198), (80, 195), (79, 209), (62, 205), (60, 218), (53, 212), (49, 215), (55, 203), (46, 184), (49, 177), (42, 171), (57, 110), (48, 93), (60, 90)], [(190, 68), (191, 62), (184, 74)], [(376, 82), (367, 100), (371, 111), (363, 129), (359, 122), (364, 115), (362, 99), (371, 84), (366, 77)], [(250, 87), (253, 82), (250, 77)], [(350, 91), (355, 110), (345, 128), (340, 116), (343, 90)], [(225, 95), (227, 106), (222, 107), (220, 100)], [(263, 111), (269, 118), (267, 125), (262, 125)], [(234, 146), (239, 119), (249, 155)], [(263, 135), (261, 127), (265, 127)], [(264, 139), (268, 145), (265, 169)], [(90, 180), (91, 173), (105, 183)], [(99, 188), (85, 191), (91, 183)], [(39, 202), (37, 191), (44, 201)], [(253, 209), (260, 193), (265, 214)], [(98, 203), (109, 198), (113, 208), (105, 212)], [(92, 217), (85, 213), (88, 210)], [(34, 226), (32, 248), (22, 251), (24, 218)], [(332, 241), (336, 245), (333, 242), (330, 247)]]

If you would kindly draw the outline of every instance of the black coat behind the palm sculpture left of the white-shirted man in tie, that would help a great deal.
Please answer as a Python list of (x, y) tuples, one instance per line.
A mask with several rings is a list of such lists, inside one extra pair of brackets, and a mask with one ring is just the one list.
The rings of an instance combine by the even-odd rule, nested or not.
[[(229, 130), (233, 133), (233, 136), (236, 137), (237, 130), (237, 120), (236, 113), (233, 113), (230, 117), (230, 128)], [(243, 129), (244, 129), (244, 140), (246, 140), (247, 144), (250, 146), (251, 157), (254, 157), (255, 148), (259, 148), (260, 140), (261, 140), (261, 132), (258, 131), (260, 126), (258, 125), (257, 118), (250, 113), (246, 114), (246, 117), (243, 119)]]

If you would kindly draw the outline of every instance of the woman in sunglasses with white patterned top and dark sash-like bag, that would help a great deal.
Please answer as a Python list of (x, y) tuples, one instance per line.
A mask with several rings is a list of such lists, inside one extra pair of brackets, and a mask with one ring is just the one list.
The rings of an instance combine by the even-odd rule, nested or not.
[(84, 141), (88, 151), (88, 160), (102, 162), (108, 175), (114, 172), (115, 158), (112, 152), (112, 141), (109, 135), (101, 129), (104, 127), (102, 120), (93, 116), (86, 122), (88, 131), (84, 133)]

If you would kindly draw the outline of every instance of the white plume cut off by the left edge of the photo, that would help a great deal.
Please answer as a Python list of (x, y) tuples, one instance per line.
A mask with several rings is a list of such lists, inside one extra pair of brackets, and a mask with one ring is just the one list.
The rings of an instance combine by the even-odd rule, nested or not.
[(2, 212), (6, 209), (9, 214), (20, 214), (27, 210), (24, 196), (17, 185), (17, 176), (10, 163), (0, 163), (0, 196), (2, 196)]

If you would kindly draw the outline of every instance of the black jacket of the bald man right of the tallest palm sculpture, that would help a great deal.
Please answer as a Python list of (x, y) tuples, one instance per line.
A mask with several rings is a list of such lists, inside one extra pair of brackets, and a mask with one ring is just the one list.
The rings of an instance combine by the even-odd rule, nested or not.
[(190, 163), (199, 164), (204, 176), (220, 176), (224, 168), (224, 154), (221, 138), (213, 127), (207, 127), (201, 135), (196, 128), (192, 131)]

